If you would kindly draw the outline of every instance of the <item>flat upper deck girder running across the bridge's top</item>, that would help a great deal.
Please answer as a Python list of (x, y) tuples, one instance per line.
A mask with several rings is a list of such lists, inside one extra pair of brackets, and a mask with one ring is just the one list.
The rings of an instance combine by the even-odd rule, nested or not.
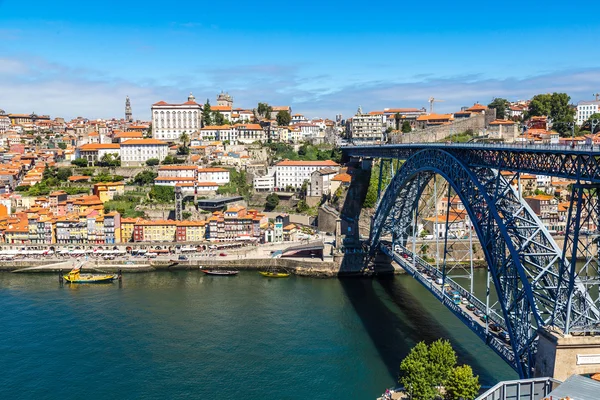
[(415, 143), (342, 148), (347, 156), (406, 160), (418, 151), (437, 149), (453, 154), (470, 167), (527, 172), (600, 183), (600, 149), (570, 149), (552, 145)]

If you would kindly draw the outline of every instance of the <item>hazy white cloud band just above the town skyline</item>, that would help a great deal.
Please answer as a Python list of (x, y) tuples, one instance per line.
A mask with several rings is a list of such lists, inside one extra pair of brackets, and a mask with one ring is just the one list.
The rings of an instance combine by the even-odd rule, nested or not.
[[(337, 80), (336, 80), (337, 81)], [(165, 83), (168, 82), (168, 83)], [(567, 92), (573, 102), (590, 99), (600, 88), (600, 68), (556, 71), (527, 78), (489, 79), (478, 75), (434, 78), (421, 75), (407, 82), (373, 80), (334, 85), (332, 76), (310, 75), (304, 66), (240, 65), (191, 70), (154, 80), (113, 78), (97, 70), (71, 68), (45, 60), (0, 59), (0, 108), (71, 118), (121, 117), (125, 96), (132, 100), (134, 117), (150, 116), (158, 100), (185, 101), (192, 91), (197, 101), (214, 102), (221, 91), (234, 96), (235, 105), (255, 107), (259, 101), (291, 105), (309, 117), (348, 117), (359, 105), (365, 110), (384, 107), (425, 107), (431, 96), (445, 100), (436, 111), (451, 112), (493, 97), (528, 99), (537, 93)]]

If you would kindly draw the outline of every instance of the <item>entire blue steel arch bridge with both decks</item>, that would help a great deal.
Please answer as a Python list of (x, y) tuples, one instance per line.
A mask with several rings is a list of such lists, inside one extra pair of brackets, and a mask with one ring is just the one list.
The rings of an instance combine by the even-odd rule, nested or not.
[[(409, 237), (415, 233), (419, 199), (434, 176), (442, 176), (452, 187), (464, 204), (472, 229), (479, 238), (498, 296), (501, 312), (490, 313), (488, 319), (508, 332), (509, 350), (506, 344), (491, 335), (488, 322), (482, 330), (444, 294), (446, 282), (455, 286), (445, 270), (441, 274), (437, 272), (443, 280), (441, 289), (436, 293), (431, 283), (429, 289), (520, 376), (530, 377), (534, 373), (539, 329), (558, 328), (563, 333), (599, 330), (596, 238), (581, 240), (583, 226), (593, 223), (594, 229), (597, 227), (599, 153), (565, 151), (565, 147), (553, 146), (446, 144), (349, 147), (343, 150), (347, 156), (406, 160), (379, 198), (369, 249), (371, 255), (381, 251), (394, 257), (415, 277), (421, 267), (430, 269), (431, 266), (414, 251), (411, 266), (398, 257), (394, 249), (401, 246), (407, 250)], [(559, 176), (576, 182), (571, 192), (562, 249), (518, 190), (511, 186), (521, 172)], [(391, 236), (392, 246), (381, 240), (384, 236)], [(578, 256), (586, 259), (583, 268), (576, 267)], [(427, 286), (422, 277), (420, 280)]]

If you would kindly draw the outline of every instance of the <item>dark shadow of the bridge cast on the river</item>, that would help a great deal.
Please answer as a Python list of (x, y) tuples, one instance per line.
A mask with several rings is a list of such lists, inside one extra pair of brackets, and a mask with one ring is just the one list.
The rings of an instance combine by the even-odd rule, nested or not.
[[(400, 279), (393, 276), (340, 278), (340, 282), (392, 378), (397, 380), (400, 362), (416, 343), (452, 338), (434, 311), (425, 308), (417, 297), (405, 290)], [(443, 306), (440, 304), (440, 307)], [(473, 335), (473, 340), (479, 338)], [(458, 363), (470, 365), (480, 382), (496, 382), (489, 365), (482, 364), (460, 343), (453, 341), (452, 346)]]

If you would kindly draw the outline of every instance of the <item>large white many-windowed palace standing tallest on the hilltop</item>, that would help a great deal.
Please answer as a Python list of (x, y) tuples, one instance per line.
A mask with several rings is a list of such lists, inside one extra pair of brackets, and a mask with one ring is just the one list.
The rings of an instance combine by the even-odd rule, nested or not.
[(177, 142), (182, 133), (190, 135), (201, 127), (202, 106), (190, 93), (183, 104), (164, 101), (152, 104), (152, 137)]

